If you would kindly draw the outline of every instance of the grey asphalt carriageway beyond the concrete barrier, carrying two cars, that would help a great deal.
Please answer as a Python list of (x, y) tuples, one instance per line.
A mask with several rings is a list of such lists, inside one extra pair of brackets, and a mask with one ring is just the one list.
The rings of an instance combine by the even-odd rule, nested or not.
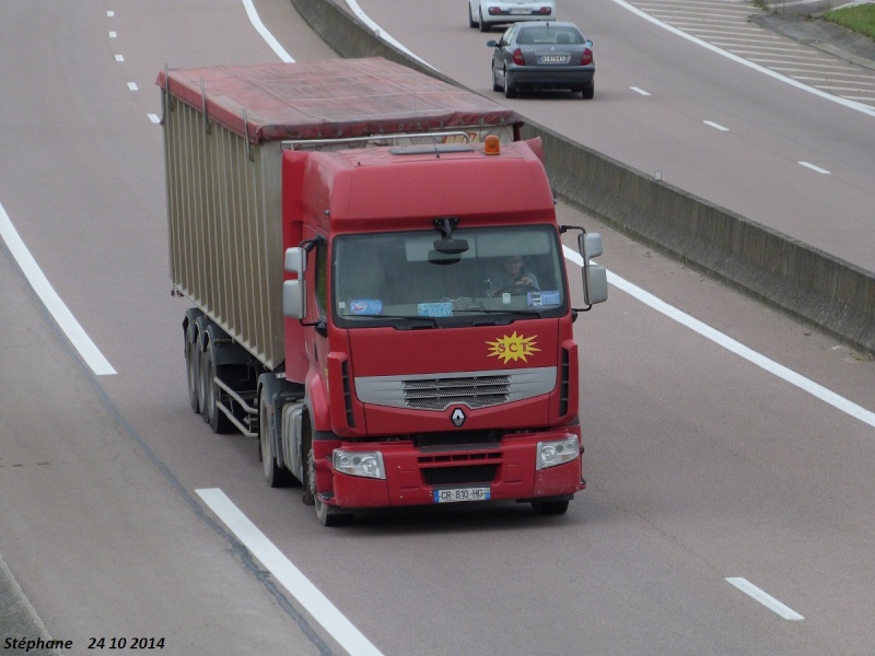
[[(460, 4), (447, 11), (445, 3), (422, 1), (416, 10), (399, 12), (390, 0), (359, 2), (385, 32), (470, 89), (646, 174), (658, 172), (677, 187), (875, 271), (871, 241), (858, 238), (873, 230), (871, 112), (849, 109), (756, 72), (611, 0), (559, 3), (559, 17), (578, 23), (594, 42), (594, 102), (555, 94), (505, 101), (491, 91), (485, 45), (500, 31), (485, 35), (470, 30)], [(675, 4), (695, 5), (700, 14), (727, 5)], [(750, 7), (751, 14), (757, 11)], [(726, 21), (737, 21), (738, 32), (774, 37), (739, 17)], [(813, 63), (828, 59), (809, 51)], [(875, 81), (875, 71), (868, 75)]]

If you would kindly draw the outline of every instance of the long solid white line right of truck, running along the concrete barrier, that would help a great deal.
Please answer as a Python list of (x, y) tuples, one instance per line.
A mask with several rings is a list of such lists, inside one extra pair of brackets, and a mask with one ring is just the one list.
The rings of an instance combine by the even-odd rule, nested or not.
[[(583, 265), (583, 260), (581, 259), (579, 253), (572, 250), (568, 246), (563, 246), (563, 250), (565, 253), (567, 259), (574, 262), (579, 267)], [(822, 385), (819, 385), (814, 380), (810, 380), (805, 376), (797, 374), (793, 370), (790, 370), (784, 365), (779, 364), (773, 360), (766, 358), (761, 353), (757, 353), (752, 349), (747, 348), (746, 345), (734, 340), (730, 336), (721, 332), (715, 328), (712, 328), (711, 326), (708, 326), (707, 324), (703, 324), (702, 321), (700, 321), (697, 318), (693, 318), (687, 313), (681, 312), (672, 305), (668, 305), (668, 303), (666, 303), (665, 301), (661, 301), (650, 292), (645, 292), (641, 288), (632, 284), (628, 280), (620, 278), (619, 276), (612, 273), (611, 271), (608, 271), (608, 282), (614, 286), (616, 286), (617, 289), (622, 290), (630, 296), (637, 298), (644, 305), (652, 307), (656, 312), (664, 314), (669, 319), (673, 319), (678, 324), (680, 324), (681, 326), (686, 326), (690, 330), (693, 330), (695, 332), (698, 332), (702, 337), (710, 339), (712, 342), (723, 347), (727, 351), (735, 353), (740, 358), (744, 358), (751, 364), (756, 364), (758, 367), (766, 370), (770, 374), (778, 376), (779, 378), (785, 380), (786, 383), (790, 383), (794, 387), (797, 387), (803, 391), (810, 394), (815, 398), (818, 398), (825, 403), (832, 406), (837, 410), (840, 410), (845, 414), (849, 414), (850, 417), (859, 419), (863, 423), (868, 424), (872, 427), (875, 427), (875, 412), (866, 410), (862, 406), (858, 406), (856, 403), (845, 399), (844, 397), (839, 396), (835, 391), (827, 389)]]

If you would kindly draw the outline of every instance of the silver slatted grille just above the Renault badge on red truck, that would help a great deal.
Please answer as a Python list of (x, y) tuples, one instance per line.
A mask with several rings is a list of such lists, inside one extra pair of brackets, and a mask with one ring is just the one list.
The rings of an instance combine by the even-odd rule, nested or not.
[(508, 402), (510, 376), (469, 376), (405, 380), (404, 401), (415, 410), (443, 410), (454, 403), (468, 408), (488, 408)]

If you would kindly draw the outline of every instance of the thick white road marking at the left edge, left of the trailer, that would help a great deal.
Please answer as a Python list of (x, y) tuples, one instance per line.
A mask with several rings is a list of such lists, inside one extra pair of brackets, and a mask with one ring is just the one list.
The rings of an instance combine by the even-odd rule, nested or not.
[(63, 301), (61, 301), (60, 296), (55, 292), (51, 284), (49, 284), (48, 279), (46, 279), (42, 269), (39, 269), (31, 251), (27, 250), (27, 246), (24, 245), (24, 242), (22, 242), (19, 236), (15, 226), (12, 225), (12, 221), (9, 219), (9, 214), (7, 214), (2, 203), (0, 203), (0, 237), (5, 242), (7, 247), (12, 253), (12, 257), (19, 262), (19, 267), (21, 267), (31, 286), (43, 301), (46, 309), (55, 317), (55, 320), (67, 336), (67, 339), (69, 339), (73, 348), (79, 351), (79, 354), (91, 367), (91, 371), (98, 376), (115, 374), (116, 370), (113, 368), (113, 365), (109, 364), (106, 358), (103, 356), (103, 353), (94, 345), (94, 342), (91, 341), (91, 338), (82, 329), (82, 326), (79, 325), (79, 321), (75, 320), (75, 317), (67, 305), (63, 304)]

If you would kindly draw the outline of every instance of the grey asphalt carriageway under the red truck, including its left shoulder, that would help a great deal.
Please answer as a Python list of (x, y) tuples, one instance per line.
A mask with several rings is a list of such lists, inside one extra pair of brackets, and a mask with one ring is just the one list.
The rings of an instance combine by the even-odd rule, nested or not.
[[(33, 458), (38, 468), (43, 452), (61, 448), (57, 426), (75, 434), (77, 468), (57, 488), (45, 478), (20, 488), (21, 480), (0, 469), (2, 525), (13, 527), (0, 537), (0, 553), (52, 633), (147, 624), (133, 623), (136, 616), (178, 636), (177, 644), (187, 640), (187, 647), (206, 635), (211, 653), (228, 645), (241, 653), (282, 653), (285, 645), (299, 653), (285, 641), (313, 645), (185, 502), (195, 490), (220, 488), (384, 654), (864, 653), (875, 637), (867, 619), (875, 589), (868, 569), (873, 429), (622, 293), (612, 292), (608, 304), (578, 321), (587, 352), (591, 485), (564, 517), (545, 522), (513, 504), (467, 506), (373, 513), (350, 530), (326, 531), (298, 502), (296, 489), (265, 487), (252, 441), (210, 434), (185, 397), (185, 303), (167, 294), (160, 133), (147, 118), (159, 110), (158, 94), (150, 98), (147, 90), (156, 68), (177, 58), (180, 66), (276, 60), (237, 4), (210, 8), (212, 34), (202, 28), (197, 3), (118, 8), (112, 24), (121, 40), (107, 40), (91, 57), (94, 30), (109, 28), (104, 16), (82, 8), (70, 15), (47, 5), (28, 11), (20, 20), (36, 23), (15, 31), (37, 34), (49, 16), (75, 30), (32, 44), (33, 52), (62, 38), (71, 39), (62, 51), (83, 51), (68, 55), (73, 61), (60, 71), (50, 58), (45, 68), (34, 63), (31, 75), (46, 83), (22, 85), (18, 112), (3, 113), (10, 120), (26, 109), (42, 120), (12, 119), (2, 130), (3, 171), (15, 173), (0, 180), (0, 201), (118, 372), (94, 380), (65, 349), (47, 348), (46, 332), (54, 332), (38, 323), (45, 317), (26, 288), (21, 280), (4, 284), (4, 300), (15, 303), (4, 302), (0, 317), (30, 348), (0, 345), (8, 376), (0, 395), (3, 457), (21, 454), (16, 459)], [(258, 9), (293, 56), (325, 56), (317, 39), (293, 27), (288, 3), (271, 0)], [(137, 36), (124, 43), (126, 34)], [(185, 47), (176, 50), (173, 35), (186, 35)], [(20, 61), (31, 61), (27, 43), (3, 36)], [(115, 66), (118, 52), (135, 75)], [(4, 79), (13, 74), (3, 70)], [(82, 80), (88, 94), (73, 83)], [(131, 80), (142, 95), (129, 90)], [(28, 125), (61, 126), (70, 138), (40, 141)], [(95, 145), (97, 134), (110, 136), (112, 145)], [(55, 175), (47, 179), (46, 169)], [(561, 211), (563, 221), (598, 227)], [(603, 232), (603, 259), (612, 271), (873, 409), (871, 363)], [(0, 280), (14, 282), (11, 271)], [(16, 375), (28, 368), (57, 373), (51, 385), (37, 374)], [(34, 408), (22, 400), (44, 397), (54, 402)], [(37, 438), (25, 441), (27, 423), (39, 417), (50, 425), (37, 424)], [(149, 452), (179, 489), (155, 472)], [(69, 505), (52, 503), (70, 490)], [(107, 512), (105, 496), (118, 495)], [(46, 528), (70, 524), (81, 530), (75, 542)], [(156, 524), (177, 530), (155, 534)], [(118, 549), (114, 535), (124, 538)], [(86, 558), (90, 549), (94, 558)], [(143, 562), (160, 563), (166, 575), (153, 581)], [(781, 619), (725, 582), (733, 576), (805, 620)], [(113, 590), (136, 589), (141, 578), (165, 595), (147, 586), (139, 606), (114, 602)], [(92, 582), (95, 600), (71, 607), (83, 581)], [(229, 610), (231, 599), (238, 605)], [(208, 601), (214, 607), (203, 610)]]

